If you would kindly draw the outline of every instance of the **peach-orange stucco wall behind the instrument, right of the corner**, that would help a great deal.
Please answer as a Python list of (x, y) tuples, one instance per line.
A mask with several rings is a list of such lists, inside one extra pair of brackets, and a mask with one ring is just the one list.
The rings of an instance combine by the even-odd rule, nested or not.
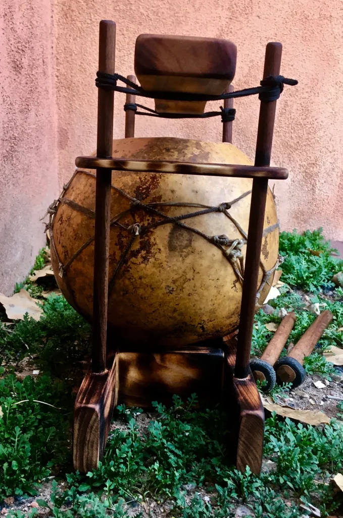
[[(340, 0), (58, 0), (57, 103), (60, 182), (74, 157), (96, 147), (98, 23), (117, 23), (116, 70), (133, 73), (141, 33), (232, 39), (237, 45), (236, 88), (259, 84), (268, 41), (284, 45), (281, 73), (299, 80), (278, 102), (272, 161), (289, 168), (275, 186), (283, 229), (324, 227), (343, 239), (343, 4)], [(123, 94), (115, 94), (114, 136), (124, 135)], [(147, 103), (149, 101), (147, 100)], [(145, 99), (144, 103), (145, 104)], [(215, 109), (216, 103), (208, 104)], [(152, 106), (152, 104), (150, 104)], [(211, 107), (210, 107), (211, 106)], [(259, 103), (235, 101), (233, 143), (253, 158)], [(136, 136), (219, 140), (221, 123), (137, 118)]]

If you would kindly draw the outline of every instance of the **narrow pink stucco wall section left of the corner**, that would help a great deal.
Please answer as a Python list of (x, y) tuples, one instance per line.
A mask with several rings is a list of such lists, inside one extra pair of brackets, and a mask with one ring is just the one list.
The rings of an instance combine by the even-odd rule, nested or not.
[(50, 0), (0, 4), (0, 291), (11, 293), (44, 244), (58, 192)]

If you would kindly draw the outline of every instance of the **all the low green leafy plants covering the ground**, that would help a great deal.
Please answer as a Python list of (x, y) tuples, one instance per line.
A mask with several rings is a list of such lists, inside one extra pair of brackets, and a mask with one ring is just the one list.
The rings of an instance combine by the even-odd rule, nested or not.
[[(316, 318), (306, 309), (306, 290), (313, 304), (334, 315), (305, 362), (308, 373), (319, 372), (329, 380), (335, 368), (322, 353), (343, 342), (343, 290), (325, 296), (325, 290), (334, 288), (332, 275), (342, 269), (330, 250), (321, 231), (281, 234), (282, 281), (289, 287), (281, 287), (281, 295), (269, 302), (275, 309), (272, 315), (257, 313), (252, 344), (253, 354), (262, 354), (272, 337), (264, 324), (279, 323), (282, 309), (297, 314), (288, 341), (296, 343)], [(42, 253), (34, 269), (44, 261)], [(17, 287), (36, 288), (29, 281)], [(35, 495), (40, 484), (54, 476), (50, 498), (37, 502), (56, 518), (128, 518), (147, 499), (166, 506), (169, 502), (170, 518), (232, 518), (238, 503), (256, 518), (299, 518), (306, 514), (300, 508), (306, 502), (329, 516), (341, 505), (330, 484), (330, 477), (343, 469), (343, 427), (338, 421), (313, 427), (269, 416), (264, 457), (271, 468), (256, 476), (249, 469), (240, 473), (232, 467), (226, 448), (227, 416), (219, 408), (195, 410), (195, 395), (186, 402), (175, 396), (171, 408), (156, 402), (156, 418), (143, 430), (141, 409), (118, 407), (116, 418), (123, 426), (111, 431), (99, 468), (85, 476), (73, 473), (72, 389), (76, 372), (82, 376), (78, 362), (88, 354), (91, 329), (63, 296), (50, 296), (41, 304), (38, 322), (28, 317), (12, 325), (0, 322), (0, 501), (11, 495)], [(38, 376), (16, 375), (26, 361), (38, 366)], [(286, 385), (271, 395), (288, 392)], [(339, 402), (337, 419), (341, 412)], [(26, 518), (40, 512), (9, 515)]]

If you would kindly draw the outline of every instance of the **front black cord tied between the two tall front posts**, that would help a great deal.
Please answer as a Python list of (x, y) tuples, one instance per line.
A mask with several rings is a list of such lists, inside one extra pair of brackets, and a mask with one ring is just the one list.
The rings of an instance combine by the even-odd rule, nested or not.
[[(138, 84), (133, 83), (129, 79), (120, 74), (106, 74), (105, 72), (97, 72), (95, 85), (97, 88), (106, 90), (114, 90), (126, 94), (138, 95), (140, 97), (147, 97), (150, 99), (163, 100), (185, 100), (185, 101), (211, 101), (222, 99), (234, 99), (236, 97), (246, 97), (248, 95), (264, 95), (262, 100), (271, 102), (279, 98), (284, 85), (296, 85), (298, 82), (295, 79), (288, 79), (284, 76), (269, 76), (261, 81), (259, 87), (244, 88), (243, 90), (236, 90), (234, 92), (225, 93), (221, 95), (209, 94), (195, 94), (190, 92), (155, 92), (151, 90), (144, 90)], [(117, 81), (122, 81), (128, 87), (118, 87)], [(131, 103), (130, 103), (131, 104)]]

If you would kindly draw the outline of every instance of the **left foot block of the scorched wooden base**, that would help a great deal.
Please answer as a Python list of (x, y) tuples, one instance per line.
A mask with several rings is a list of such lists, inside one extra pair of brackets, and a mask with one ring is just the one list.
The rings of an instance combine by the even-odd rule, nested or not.
[(102, 374), (88, 371), (74, 405), (73, 465), (86, 473), (98, 467), (110, 429), (115, 401), (116, 356)]

